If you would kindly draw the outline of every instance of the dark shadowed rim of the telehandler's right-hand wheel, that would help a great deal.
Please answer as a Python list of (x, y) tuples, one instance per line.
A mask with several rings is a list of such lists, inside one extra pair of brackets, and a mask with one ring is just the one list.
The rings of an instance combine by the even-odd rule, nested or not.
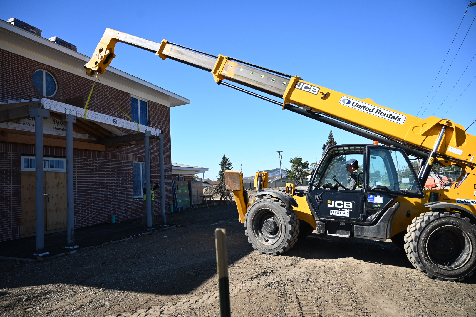
[(459, 269), (470, 259), (473, 245), (466, 232), (456, 226), (433, 231), (426, 243), (429, 259), (441, 269)]

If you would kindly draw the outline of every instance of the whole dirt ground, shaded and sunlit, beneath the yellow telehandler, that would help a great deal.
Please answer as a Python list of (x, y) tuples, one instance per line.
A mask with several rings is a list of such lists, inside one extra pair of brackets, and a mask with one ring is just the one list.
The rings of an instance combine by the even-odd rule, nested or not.
[(177, 229), (41, 262), (0, 260), (0, 316), (219, 316), (214, 229), (228, 234), (232, 316), (476, 316), (475, 278), (427, 278), (391, 242), (311, 234), (282, 256), (248, 244), (235, 206)]

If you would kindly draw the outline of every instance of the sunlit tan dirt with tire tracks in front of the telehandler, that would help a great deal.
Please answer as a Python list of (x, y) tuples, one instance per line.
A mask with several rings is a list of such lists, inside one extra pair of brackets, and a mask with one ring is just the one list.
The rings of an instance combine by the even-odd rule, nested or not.
[[(234, 316), (254, 316), (258, 311), (283, 317), (476, 316), (474, 287), (429, 279), (413, 269), (352, 258), (302, 259), (253, 252), (230, 266), (231, 275), (243, 277), (233, 271), (245, 265), (254, 273), (230, 284)], [(213, 283), (211, 278), (205, 284)], [(215, 291), (109, 317), (208, 316), (218, 307)]]

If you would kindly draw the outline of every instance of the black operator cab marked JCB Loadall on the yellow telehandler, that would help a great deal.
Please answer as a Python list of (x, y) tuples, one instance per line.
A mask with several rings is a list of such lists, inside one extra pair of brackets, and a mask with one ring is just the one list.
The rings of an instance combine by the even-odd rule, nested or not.
[[(358, 184), (355, 189), (348, 189), (351, 177), (346, 167), (354, 160), (358, 162)], [(327, 149), (311, 176), (307, 196), (316, 219), (347, 225), (345, 231), (350, 236), (352, 223), (373, 224), (398, 196), (421, 199), (423, 192), (417, 173), (402, 150), (344, 144)]]

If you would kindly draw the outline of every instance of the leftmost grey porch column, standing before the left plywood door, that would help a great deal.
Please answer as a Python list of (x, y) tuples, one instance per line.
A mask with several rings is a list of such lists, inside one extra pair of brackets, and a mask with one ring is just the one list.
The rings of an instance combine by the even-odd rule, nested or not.
[(31, 109), (30, 117), (35, 118), (35, 199), (36, 199), (36, 251), (45, 248), (45, 200), (43, 188), (43, 118), (50, 117), (47, 109)]

